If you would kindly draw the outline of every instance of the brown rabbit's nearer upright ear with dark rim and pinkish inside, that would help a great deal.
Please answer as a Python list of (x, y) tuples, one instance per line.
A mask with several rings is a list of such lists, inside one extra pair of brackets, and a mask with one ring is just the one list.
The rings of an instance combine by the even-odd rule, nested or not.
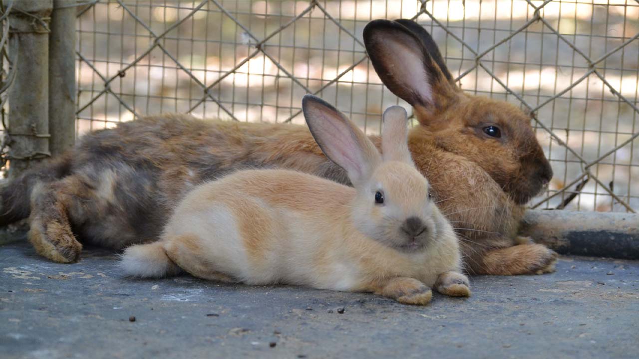
[[(422, 29), (420, 35), (424, 33), (426, 30)], [(436, 49), (430, 35), (426, 35), (422, 38), (427, 38)], [(458, 88), (449, 81), (447, 70), (442, 71), (422, 38), (395, 21), (373, 20), (364, 27), (364, 44), (375, 72), (392, 93), (422, 114), (418, 118), (427, 125), (429, 119), (435, 117), (430, 115), (457, 98)], [(441, 54), (436, 57), (443, 63)]]

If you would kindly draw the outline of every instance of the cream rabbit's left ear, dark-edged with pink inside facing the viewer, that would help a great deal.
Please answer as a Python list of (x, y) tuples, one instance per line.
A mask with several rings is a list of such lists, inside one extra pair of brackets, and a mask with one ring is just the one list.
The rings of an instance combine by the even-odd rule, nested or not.
[(380, 164), (373, 142), (341, 112), (319, 97), (302, 98), (304, 118), (319, 148), (348, 173), (351, 183), (366, 181)]

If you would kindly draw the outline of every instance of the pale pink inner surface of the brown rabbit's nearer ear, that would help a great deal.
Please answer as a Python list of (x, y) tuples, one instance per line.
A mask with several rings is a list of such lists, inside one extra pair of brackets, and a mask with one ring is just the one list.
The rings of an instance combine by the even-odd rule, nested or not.
[(406, 84), (406, 88), (419, 96), (422, 103), (432, 103), (433, 89), (424, 68), (423, 54), (419, 52), (420, 49), (400, 41), (389, 41), (385, 44), (390, 56), (395, 58), (389, 66), (389, 72), (396, 81)]

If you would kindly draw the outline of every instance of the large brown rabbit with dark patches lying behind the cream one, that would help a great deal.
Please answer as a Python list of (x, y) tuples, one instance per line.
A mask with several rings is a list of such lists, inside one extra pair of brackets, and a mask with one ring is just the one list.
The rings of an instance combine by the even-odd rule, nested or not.
[[(521, 205), (552, 176), (530, 118), (509, 103), (463, 93), (431, 36), (410, 20), (374, 20), (364, 41), (383, 82), (413, 105), (420, 122), (409, 135), (413, 161), (456, 227), (466, 270), (552, 270), (555, 252), (516, 243)], [(245, 167), (349, 183), (305, 126), (151, 116), (86, 135), (65, 156), (12, 181), (0, 192), (0, 224), (30, 213), (38, 253), (73, 262), (80, 241), (123, 248), (157, 240), (194, 185)]]

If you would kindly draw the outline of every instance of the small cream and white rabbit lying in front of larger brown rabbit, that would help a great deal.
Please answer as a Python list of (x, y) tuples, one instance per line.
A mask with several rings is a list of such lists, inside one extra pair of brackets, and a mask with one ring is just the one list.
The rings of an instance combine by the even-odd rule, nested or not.
[(383, 156), (337, 109), (307, 95), (313, 137), (354, 188), (288, 170), (248, 170), (196, 187), (162, 239), (128, 247), (127, 275), (371, 291), (424, 305), (431, 287), (468, 296), (458, 241), (412, 162), (406, 111), (383, 114)]

